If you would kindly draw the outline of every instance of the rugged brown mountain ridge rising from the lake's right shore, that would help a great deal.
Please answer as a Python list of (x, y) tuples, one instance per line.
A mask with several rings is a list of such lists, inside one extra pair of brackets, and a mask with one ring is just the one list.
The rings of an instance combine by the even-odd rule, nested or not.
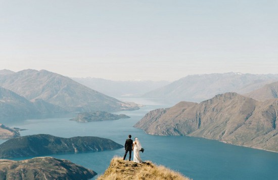
[(149, 112), (134, 126), (149, 134), (193, 136), (278, 152), (278, 99), (225, 93)]

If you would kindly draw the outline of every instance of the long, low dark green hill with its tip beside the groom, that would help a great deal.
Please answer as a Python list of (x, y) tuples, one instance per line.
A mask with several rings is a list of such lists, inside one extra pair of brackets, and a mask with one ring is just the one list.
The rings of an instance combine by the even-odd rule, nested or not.
[(60, 138), (36, 134), (10, 139), (0, 145), (0, 158), (42, 156), (59, 153), (105, 151), (123, 148), (112, 140), (99, 137)]

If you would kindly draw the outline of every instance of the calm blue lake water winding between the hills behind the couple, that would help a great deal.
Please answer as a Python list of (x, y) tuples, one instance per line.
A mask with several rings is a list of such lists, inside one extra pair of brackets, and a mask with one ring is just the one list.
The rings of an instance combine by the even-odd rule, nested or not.
[[(38, 133), (64, 138), (97, 136), (124, 145), (128, 134), (132, 134), (132, 139), (138, 137), (145, 149), (145, 152), (141, 153), (143, 160), (164, 165), (193, 179), (278, 179), (278, 153), (227, 145), (202, 138), (146, 134), (133, 125), (150, 110), (170, 107), (170, 105), (159, 105), (140, 99), (128, 101), (147, 105), (137, 111), (117, 112), (131, 118), (113, 121), (80, 123), (69, 120), (75, 117), (73, 114), (63, 118), (28, 119), (20, 122), (2, 120), (1, 122), (10, 127), (28, 129), (21, 131), (21, 136)], [(122, 148), (104, 152), (60, 154), (53, 157), (70, 160), (101, 174), (114, 156), (123, 156), (123, 154)], [(21, 159), (23, 158), (14, 160)]]

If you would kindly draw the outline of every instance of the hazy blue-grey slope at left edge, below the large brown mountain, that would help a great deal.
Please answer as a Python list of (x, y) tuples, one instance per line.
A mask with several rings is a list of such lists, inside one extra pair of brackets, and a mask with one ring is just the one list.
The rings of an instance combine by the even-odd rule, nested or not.
[(34, 100), (32, 103), (24, 97), (0, 87), (0, 117), (65, 112), (67, 111), (59, 106), (52, 105), (43, 100)]

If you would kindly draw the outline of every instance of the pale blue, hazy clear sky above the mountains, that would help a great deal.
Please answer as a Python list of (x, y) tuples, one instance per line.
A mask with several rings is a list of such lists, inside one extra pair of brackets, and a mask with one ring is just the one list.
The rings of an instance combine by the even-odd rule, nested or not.
[(0, 0), (0, 69), (177, 80), (278, 73), (277, 0)]

